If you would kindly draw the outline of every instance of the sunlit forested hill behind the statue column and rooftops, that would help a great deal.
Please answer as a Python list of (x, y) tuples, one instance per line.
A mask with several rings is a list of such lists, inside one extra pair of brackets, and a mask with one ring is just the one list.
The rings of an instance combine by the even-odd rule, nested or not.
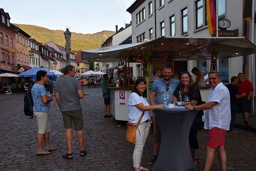
[[(38, 42), (55, 42), (60, 46), (65, 46), (66, 40), (63, 30), (49, 30), (47, 28), (26, 25), (14, 24), (28, 33), (31, 38), (36, 39)], [(72, 32), (71, 35), (71, 50), (88, 50), (99, 48), (105, 40), (115, 34), (113, 31), (102, 31), (94, 34), (81, 34)]]

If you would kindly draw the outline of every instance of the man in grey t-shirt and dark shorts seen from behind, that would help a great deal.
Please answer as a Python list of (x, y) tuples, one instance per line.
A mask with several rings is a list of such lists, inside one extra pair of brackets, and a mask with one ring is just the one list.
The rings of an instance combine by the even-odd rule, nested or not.
[(84, 93), (79, 81), (73, 78), (76, 74), (75, 67), (67, 65), (64, 68), (64, 77), (56, 80), (55, 97), (62, 112), (64, 128), (66, 129), (66, 141), (68, 152), (62, 156), (64, 159), (73, 159), (72, 155), (72, 130), (73, 123), (76, 130), (76, 136), (80, 145), (80, 157), (86, 155), (84, 149), (83, 137), (83, 113), (79, 99), (84, 98)]

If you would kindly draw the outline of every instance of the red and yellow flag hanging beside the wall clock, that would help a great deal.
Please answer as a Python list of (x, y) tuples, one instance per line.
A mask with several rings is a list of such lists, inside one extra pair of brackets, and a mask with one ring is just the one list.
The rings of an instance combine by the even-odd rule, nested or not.
[(209, 35), (216, 34), (216, 12), (214, 0), (206, 0)]

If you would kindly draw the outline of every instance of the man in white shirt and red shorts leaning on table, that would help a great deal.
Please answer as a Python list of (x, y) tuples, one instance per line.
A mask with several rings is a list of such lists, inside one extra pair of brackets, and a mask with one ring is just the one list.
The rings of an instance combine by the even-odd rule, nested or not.
[(231, 111), (228, 88), (222, 84), (220, 73), (211, 71), (208, 74), (212, 87), (207, 103), (198, 106), (188, 105), (190, 110), (206, 110), (204, 128), (209, 129), (209, 139), (206, 145), (206, 162), (204, 171), (210, 171), (217, 149), (221, 170), (226, 170), (225, 134), (229, 130)]

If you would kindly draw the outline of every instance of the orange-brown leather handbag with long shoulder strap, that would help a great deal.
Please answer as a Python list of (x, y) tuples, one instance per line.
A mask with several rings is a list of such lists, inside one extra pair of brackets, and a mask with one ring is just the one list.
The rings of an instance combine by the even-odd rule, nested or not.
[(138, 121), (138, 123), (135, 125), (134, 123), (127, 123), (127, 132), (126, 132), (126, 141), (128, 143), (135, 143), (136, 140), (136, 130), (138, 128), (138, 126), (140, 125), (140, 121), (142, 119), (142, 117), (144, 116), (144, 112), (141, 114), (140, 116), (140, 120)]

